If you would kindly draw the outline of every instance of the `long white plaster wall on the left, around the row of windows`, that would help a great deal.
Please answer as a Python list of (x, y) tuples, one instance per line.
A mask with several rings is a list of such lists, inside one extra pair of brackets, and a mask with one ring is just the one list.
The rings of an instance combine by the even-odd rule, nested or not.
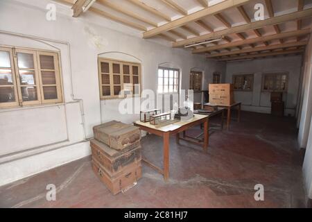
[(224, 64), (220, 67), (218, 62), (207, 62), (205, 56), (172, 49), (163, 40), (143, 40), (137, 31), (103, 17), (89, 13), (73, 18), (70, 8), (58, 3), (56, 21), (49, 22), (47, 3), (55, 2), (0, 1), (0, 44), (60, 51), (64, 94), (62, 104), (0, 110), (0, 185), (89, 155), (86, 139), (93, 137), (92, 127), (101, 120), (130, 123), (139, 118), (119, 114), (118, 99), (100, 102), (98, 55), (140, 62), (143, 89), (156, 89), (157, 67), (163, 62), (180, 69), (181, 89), (189, 88), (193, 67), (204, 71), (204, 88), (214, 71), (225, 72)]

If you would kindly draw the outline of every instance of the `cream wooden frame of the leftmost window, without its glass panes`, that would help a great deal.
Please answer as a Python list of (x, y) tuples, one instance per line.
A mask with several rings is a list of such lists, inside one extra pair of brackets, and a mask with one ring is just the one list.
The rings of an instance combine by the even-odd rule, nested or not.
[[(25, 47), (15, 47), (15, 46), (0, 46), (0, 51), (8, 51), (10, 54), (10, 62), (12, 69), (12, 80), (15, 87), (15, 102), (12, 103), (0, 103), (0, 108), (14, 108), (23, 107), (28, 105), (45, 105), (53, 103), (63, 102), (63, 90), (62, 90), (62, 76), (60, 67), (60, 52), (42, 49), (33, 49)], [(27, 53), (33, 55), (33, 68), (19, 68), (17, 53)], [(40, 55), (53, 56), (54, 69), (41, 69), (40, 67)], [(1, 68), (2, 69), (2, 68)], [(19, 71), (33, 71), (35, 74), (35, 86), (37, 92), (36, 101), (23, 101), (21, 94), (21, 87), (27, 87), (27, 85), (21, 85)], [(43, 85), (42, 84), (42, 71), (54, 71), (55, 74), (55, 84), (53, 85)], [(57, 99), (44, 99), (44, 86), (55, 86), (57, 92)]]

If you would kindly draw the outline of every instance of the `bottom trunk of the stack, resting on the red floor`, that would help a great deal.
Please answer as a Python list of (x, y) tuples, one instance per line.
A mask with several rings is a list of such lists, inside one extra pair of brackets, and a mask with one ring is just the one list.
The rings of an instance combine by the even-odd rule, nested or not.
[(128, 189), (135, 185), (137, 180), (141, 178), (141, 164), (137, 163), (132, 167), (127, 167), (118, 175), (111, 177), (104, 167), (94, 158), (92, 158), (92, 168), (96, 176), (110, 189), (112, 194), (116, 195), (124, 189)]

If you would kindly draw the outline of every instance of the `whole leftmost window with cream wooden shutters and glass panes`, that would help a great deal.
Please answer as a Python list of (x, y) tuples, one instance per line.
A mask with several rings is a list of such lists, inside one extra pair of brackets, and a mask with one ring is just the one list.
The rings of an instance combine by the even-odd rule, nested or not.
[(1, 47), (0, 70), (0, 108), (62, 102), (58, 52)]

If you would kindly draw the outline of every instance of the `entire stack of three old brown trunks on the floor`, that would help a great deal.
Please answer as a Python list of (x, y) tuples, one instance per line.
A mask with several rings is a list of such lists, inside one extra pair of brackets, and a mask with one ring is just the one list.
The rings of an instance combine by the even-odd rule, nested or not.
[(90, 142), (94, 173), (113, 194), (141, 178), (141, 132), (119, 121), (94, 126)]

